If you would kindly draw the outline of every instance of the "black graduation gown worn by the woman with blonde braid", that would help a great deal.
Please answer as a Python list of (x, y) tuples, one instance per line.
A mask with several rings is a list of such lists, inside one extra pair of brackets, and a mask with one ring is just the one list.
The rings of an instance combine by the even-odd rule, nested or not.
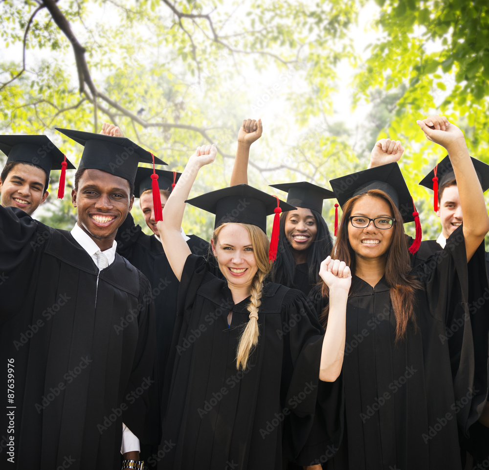
[[(235, 305), (226, 281), (202, 257), (188, 256), (158, 469), (282, 469), (282, 451), (295, 456), (302, 449), (318, 390), (320, 326), (299, 291), (266, 284), (259, 342), (246, 370), (238, 371), (248, 301)], [(330, 416), (337, 413), (332, 397)], [(338, 439), (335, 431), (331, 439)]]

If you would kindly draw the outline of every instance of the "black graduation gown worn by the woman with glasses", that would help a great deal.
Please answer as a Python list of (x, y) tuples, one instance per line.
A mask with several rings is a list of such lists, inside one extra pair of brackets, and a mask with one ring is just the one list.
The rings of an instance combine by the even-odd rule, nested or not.
[[(483, 245), (474, 257), (484, 257)], [(467, 305), (467, 278), (480, 273), (467, 269), (462, 229), (430, 260), (413, 271), (424, 287), (416, 295), (419, 329), (409, 325), (398, 344), (385, 279), (374, 288), (353, 279), (342, 369), (345, 435), (327, 469), (461, 468), (457, 424), (467, 432), (486, 393), (474, 386)], [(460, 330), (460, 347), (450, 350), (448, 331)]]

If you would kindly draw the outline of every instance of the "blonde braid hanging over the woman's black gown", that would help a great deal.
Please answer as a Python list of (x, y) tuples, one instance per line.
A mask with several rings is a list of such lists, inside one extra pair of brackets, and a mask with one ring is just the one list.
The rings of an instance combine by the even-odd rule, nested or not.
[(258, 271), (250, 289), (250, 302), (248, 304), (249, 320), (238, 343), (236, 368), (246, 368), (248, 358), (253, 348), (258, 344), (260, 329), (258, 328), (258, 309), (262, 303), (263, 281), (267, 273)]

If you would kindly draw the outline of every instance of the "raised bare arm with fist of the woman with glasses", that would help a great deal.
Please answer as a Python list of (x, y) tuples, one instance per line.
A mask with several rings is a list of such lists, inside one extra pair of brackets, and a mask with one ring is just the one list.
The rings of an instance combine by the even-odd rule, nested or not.
[(428, 140), (445, 147), (448, 152), (464, 217), (463, 231), (468, 261), (489, 231), (489, 217), (464, 134), (457, 126), (450, 124), (445, 116), (428, 116), (416, 122)]

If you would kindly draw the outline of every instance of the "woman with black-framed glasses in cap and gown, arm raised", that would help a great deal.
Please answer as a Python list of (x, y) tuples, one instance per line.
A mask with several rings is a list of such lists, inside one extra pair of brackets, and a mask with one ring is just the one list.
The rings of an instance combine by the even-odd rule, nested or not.
[[(345, 431), (328, 469), (461, 469), (458, 432), (485, 403), (487, 363), (486, 386), (474, 386), (467, 307), (471, 279), (484, 270), (484, 197), (460, 129), (439, 116), (418, 124), (448, 151), (464, 225), (411, 270), (403, 223), (418, 214), (397, 163), (331, 181), (343, 209), (333, 256), (353, 279), (340, 379)], [(316, 307), (326, 323), (328, 287), (321, 291)]]

